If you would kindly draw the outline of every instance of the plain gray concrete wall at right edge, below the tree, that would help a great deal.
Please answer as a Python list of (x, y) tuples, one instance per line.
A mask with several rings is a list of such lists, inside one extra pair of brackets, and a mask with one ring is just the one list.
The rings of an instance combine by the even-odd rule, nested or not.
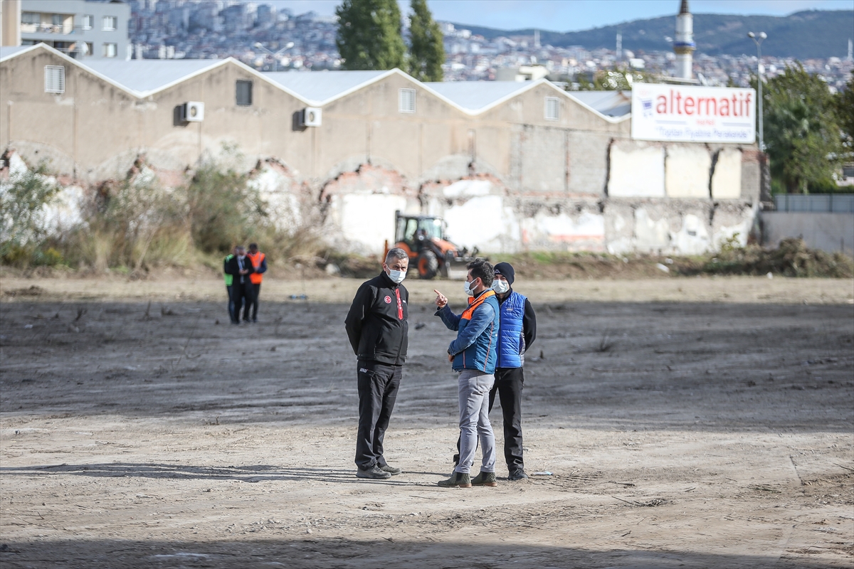
[(807, 247), (854, 255), (854, 214), (762, 212), (762, 243), (776, 247), (787, 237), (801, 237)]

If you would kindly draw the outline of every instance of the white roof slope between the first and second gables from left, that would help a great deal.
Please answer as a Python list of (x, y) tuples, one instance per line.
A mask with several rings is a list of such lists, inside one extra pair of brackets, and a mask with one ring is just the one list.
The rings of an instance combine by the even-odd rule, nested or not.
[(80, 64), (139, 94), (160, 90), (225, 60), (85, 60)]

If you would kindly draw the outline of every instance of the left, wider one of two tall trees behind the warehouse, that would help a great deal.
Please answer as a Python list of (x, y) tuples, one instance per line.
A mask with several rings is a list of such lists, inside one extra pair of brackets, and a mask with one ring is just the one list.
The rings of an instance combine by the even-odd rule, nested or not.
[(404, 68), (401, 9), (395, 0), (343, 0), (335, 43), (349, 70)]

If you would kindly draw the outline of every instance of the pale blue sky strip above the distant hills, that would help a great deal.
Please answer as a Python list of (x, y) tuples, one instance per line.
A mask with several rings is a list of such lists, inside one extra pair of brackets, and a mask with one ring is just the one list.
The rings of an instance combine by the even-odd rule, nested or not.
[[(289, 8), (295, 14), (310, 10), (335, 14), (340, 0), (254, 0)], [(398, 0), (409, 12), (408, 0)], [(539, 28), (577, 32), (623, 21), (676, 15), (680, 0), (428, 0), (436, 20), (500, 30)], [(690, 0), (694, 14), (782, 16), (801, 10), (851, 10), (854, 0)]]

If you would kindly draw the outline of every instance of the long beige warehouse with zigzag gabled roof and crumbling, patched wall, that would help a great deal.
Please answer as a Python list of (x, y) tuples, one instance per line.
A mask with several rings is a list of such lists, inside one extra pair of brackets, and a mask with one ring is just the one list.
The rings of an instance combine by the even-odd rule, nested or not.
[[(174, 183), (237, 148), (283, 224), (376, 253), (395, 210), (489, 252), (700, 253), (757, 212), (752, 140), (632, 136), (632, 99), (545, 79), (421, 83), (399, 70), (257, 73), (222, 61), (0, 50), (0, 148), (86, 188), (135, 160)], [(227, 153), (226, 153), (227, 154)], [(312, 220), (309, 222), (308, 220)], [(316, 221), (315, 221), (316, 220)]]

